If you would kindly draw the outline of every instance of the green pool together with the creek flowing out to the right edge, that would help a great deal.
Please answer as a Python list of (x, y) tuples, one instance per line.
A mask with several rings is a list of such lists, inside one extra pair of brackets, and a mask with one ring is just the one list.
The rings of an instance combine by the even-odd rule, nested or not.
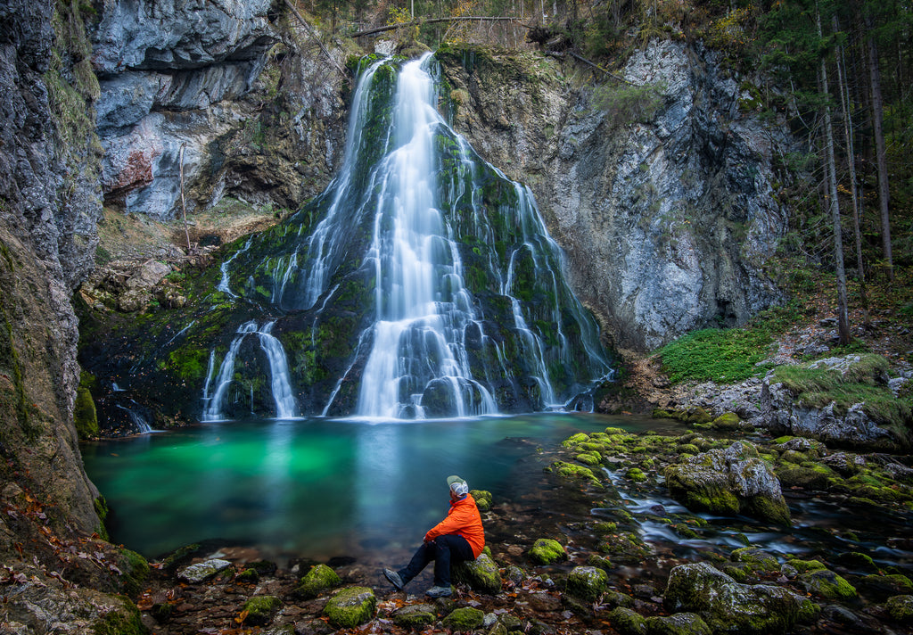
[[(494, 495), (486, 526), (492, 545), (531, 542), (558, 526), (582, 548), (593, 541), (588, 525), (618, 520), (624, 509), (660, 560), (752, 545), (782, 559), (861, 551), (883, 566), (913, 570), (903, 514), (859, 514), (786, 492), (790, 529), (702, 514), (706, 526), (695, 527), (698, 534), (689, 539), (669, 529), (667, 519), (687, 510), (662, 489), (637, 492), (603, 470), (610, 492), (594, 505), (590, 495), (543, 472), (562, 439), (606, 426), (685, 431), (668, 420), (579, 413), (411, 423), (258, 419), (90, 443), (83, 456), (110, 504), (112, 540), (149, 557), (217, 540), (255, 547), (280, 562), (404, 558), (443, 517), (442, 483), (458, 473)], [(623, 569), (634, 575), (649, 566)]]

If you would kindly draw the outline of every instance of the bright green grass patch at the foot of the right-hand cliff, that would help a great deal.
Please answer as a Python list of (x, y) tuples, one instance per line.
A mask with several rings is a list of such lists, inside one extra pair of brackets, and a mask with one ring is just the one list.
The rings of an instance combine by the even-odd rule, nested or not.
[(766, 372), (767, 366), (758, 364), (772, 342), (767, 329), (705, 329), (666, 344), (658, 355), (674, 384), (689, 379), (734, 384)]

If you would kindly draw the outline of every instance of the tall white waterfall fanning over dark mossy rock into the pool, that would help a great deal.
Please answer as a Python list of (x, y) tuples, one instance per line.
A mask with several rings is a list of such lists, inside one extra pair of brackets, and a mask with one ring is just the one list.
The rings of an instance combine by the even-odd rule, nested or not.
[[(236, 368), (250, 333), (280, 418), (577, 407), (611, 376), (530, 189), (450, 128), (436, 72), (430, 54), (362, 62), (339, 175), (223, 262), (218, 289), (264, 326), (242, 323), (218, 365), (213, 349), (204, 419), (226, 417), (238, 377), (263, 376)], [(230, 277), (247, 280), (239, 295)]]

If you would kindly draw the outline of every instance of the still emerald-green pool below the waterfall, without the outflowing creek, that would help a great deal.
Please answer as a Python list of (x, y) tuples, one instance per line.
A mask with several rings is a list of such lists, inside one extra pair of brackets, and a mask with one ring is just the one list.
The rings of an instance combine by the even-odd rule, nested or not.
[(144, 556), (222, 539), (269, 556), (320, 558), (420, 541), (446, 511), (450, 474), (508, 496), (530, 479), (526, 460), (539, 447), (576, 431), (656, 424), (553, 413), (418, 423), (258, 419), (82, 450), (110, 505), (112, 541)]

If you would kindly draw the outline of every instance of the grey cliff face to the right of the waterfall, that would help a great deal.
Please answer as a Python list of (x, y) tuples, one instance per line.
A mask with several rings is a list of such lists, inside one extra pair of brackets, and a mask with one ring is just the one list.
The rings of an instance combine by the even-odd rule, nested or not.
[(615, 345), (650, 350), (777, 302), (764, 266), (785, 228), (774, 165), (791, 142), (714, 54), (656, 41), (595, 91), (555, 59), (440, 58), (457, 129), (530, 184)]

